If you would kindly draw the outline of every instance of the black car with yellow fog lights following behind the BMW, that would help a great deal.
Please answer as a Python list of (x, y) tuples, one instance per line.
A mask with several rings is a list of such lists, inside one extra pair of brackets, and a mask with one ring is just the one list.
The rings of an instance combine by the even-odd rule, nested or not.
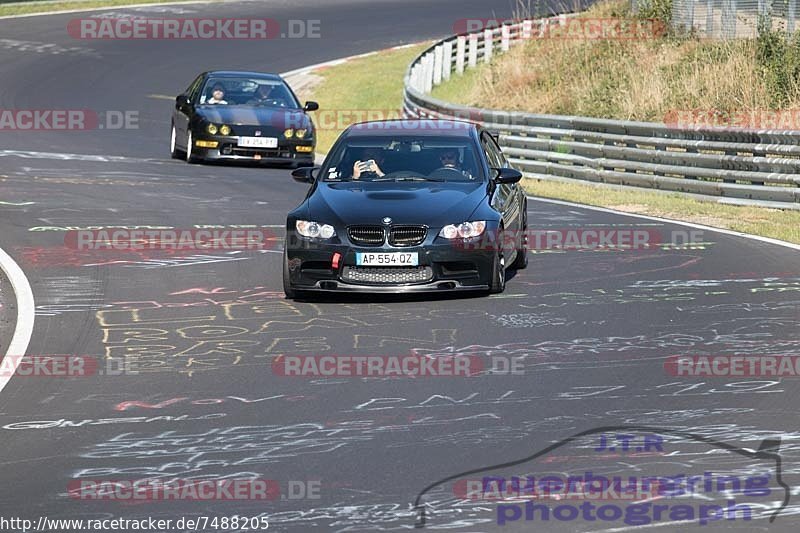
[(277, 74), (216, 71), (200, 74), (175, 99), (170, 131), (173, 158), (314, 164), (314, 124)]

